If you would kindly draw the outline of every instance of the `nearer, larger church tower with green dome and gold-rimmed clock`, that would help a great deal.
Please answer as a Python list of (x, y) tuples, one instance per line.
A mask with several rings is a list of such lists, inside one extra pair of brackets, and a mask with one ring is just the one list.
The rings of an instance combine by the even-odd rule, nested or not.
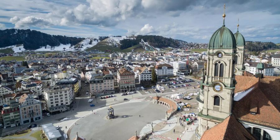
[(213, 33), (208, 44), (207, 68), (203, 72), (206, 74), (198, 100), (198, 138), (231, 115), (235, 89), (236, 40), (225, 26), (225, 8), (224, 5), (223, 25)]

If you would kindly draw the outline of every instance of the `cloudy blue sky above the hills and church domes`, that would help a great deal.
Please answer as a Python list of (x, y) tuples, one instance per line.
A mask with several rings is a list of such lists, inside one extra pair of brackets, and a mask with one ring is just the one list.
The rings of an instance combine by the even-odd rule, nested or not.
[(280, 43), (279, 0), (1, 0), (0, 30), (98, 37), (161, 35), (208, 43), (223, 24), (246, 41)]

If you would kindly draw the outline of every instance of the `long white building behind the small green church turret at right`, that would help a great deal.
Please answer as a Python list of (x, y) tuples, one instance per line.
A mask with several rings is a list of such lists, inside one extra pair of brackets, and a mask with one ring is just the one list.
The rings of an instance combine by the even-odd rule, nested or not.
[[(247, 72), (253, 73), (255, 75), (255, 73), (257, 72), (257, 69), (256, 69), (257, 64), (258, 64), (258, 62), (246, 62), (244, 64), (245, 70)], [(268, 65), (266, 63), (263, 63), (263, 64), (264, 64), (264, 71), (263, 71), (264, 76), (273, 76), (275, 67)]]

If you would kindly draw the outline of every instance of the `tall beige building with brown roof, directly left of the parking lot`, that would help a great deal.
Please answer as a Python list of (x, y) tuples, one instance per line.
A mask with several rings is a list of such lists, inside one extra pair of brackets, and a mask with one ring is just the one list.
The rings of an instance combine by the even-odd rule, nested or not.
[(121, 67), (117, 71), (118, 86), (121, 92), (135, 90), (135, 74), (127, 68)]

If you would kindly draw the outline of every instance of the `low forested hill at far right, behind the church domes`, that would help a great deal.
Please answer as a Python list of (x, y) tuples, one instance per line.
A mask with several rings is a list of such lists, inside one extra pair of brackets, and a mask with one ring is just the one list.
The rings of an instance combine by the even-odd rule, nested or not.
[(262, 51), (262, 50), (266, 50), (266, 49), (279, 49), (279, 46), (277, 46), (276, 44), (274, 44), (273, 42), (252, 42), (252, 41), (247, 41), (246, 42), (246, 46), (245, 49), (249, 50), (249, 51)]

